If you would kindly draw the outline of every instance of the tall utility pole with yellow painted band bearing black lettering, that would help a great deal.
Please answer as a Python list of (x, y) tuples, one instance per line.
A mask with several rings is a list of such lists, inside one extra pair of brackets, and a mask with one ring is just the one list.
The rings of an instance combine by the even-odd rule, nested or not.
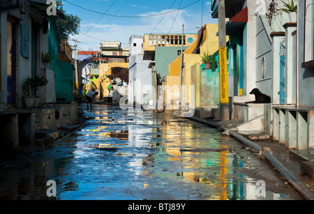
[(227, 74), (227, 47), (225, 30), (225, 0), (218, 0), (220, 121), (229, 120), (229, 95)]

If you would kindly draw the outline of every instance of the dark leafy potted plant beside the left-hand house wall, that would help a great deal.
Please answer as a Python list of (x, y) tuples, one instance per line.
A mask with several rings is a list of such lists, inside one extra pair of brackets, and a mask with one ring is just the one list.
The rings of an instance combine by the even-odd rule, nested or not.
[(31, 95), (31, 92), (34, 93), (34, 95), (37, 95), (37, 91), (45, 86), (48, 83), (48, 79), (45, 77), (35, 77), (35, 78), (30, 78), (27, 77), (23, 84), (22, 84), (22, 91), (27, 94)]

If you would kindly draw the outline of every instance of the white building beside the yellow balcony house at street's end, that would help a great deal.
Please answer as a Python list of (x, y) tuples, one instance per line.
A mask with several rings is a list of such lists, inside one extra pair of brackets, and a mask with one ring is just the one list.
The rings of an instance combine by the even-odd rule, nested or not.
[(130, 36), (128, 103), (140, 108), (153, 99), (149, 61), (143, 60), (144, 36)]

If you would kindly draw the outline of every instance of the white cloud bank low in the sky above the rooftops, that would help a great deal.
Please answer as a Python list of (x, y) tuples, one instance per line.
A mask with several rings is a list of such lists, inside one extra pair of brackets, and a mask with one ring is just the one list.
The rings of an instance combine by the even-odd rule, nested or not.
[[(159, 13), (167, 13), (167, 10), (141, 14), (141, 16), (156, 15)], [(124, 47), (128, 45), (129, 38), (132, 35), (144, 36), (145, 33), (168, 33), (169, 31), (170, 33), (181, 33), (182, 24), (185, 25), (185, 29), (188, 33), (197, 33), (198, 29), (196, 27), (200, 27), (201, 23), (209, 23), (208, 21), (211, 21), (208, 17), (203, 17), (203, 22), (201, 22), (199, 14), (188, 13), (186, 10), (178, 10), (173, 13), (167, 13), (167, 15), (129, 18), (126, 19), (125, 24), (81, 24), (81, 31), (83, 33), (86, 33), (86, 31), (94, 25), (91, 31), (86, 33), (92, 38), (82, 33), (74, 38), (78, 38), (78, 40), (82, 41), (80, 47), (84, 50), (89, 48), (96, 49), (96, 46), (99, 49), (101, 41), (120, 41), (122, 47)]]

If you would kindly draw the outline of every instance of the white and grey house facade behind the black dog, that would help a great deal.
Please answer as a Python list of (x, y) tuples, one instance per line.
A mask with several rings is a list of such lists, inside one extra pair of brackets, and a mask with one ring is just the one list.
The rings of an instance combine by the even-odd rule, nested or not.
[[(287, 3), (287, 1), (284, 1)], [(212, 1), (218, 17), (218, 1)], [(313, 148), (313, 1), (294, 1), (297, 20), (274, 0), (225, 1), (232, 119), (288, 148)], [(270, 104), (247, 104), (258, 88)], [(241, 128), (239, 126), (239, 128)], [(238, 130), (239, 130), (238, 128)]]

